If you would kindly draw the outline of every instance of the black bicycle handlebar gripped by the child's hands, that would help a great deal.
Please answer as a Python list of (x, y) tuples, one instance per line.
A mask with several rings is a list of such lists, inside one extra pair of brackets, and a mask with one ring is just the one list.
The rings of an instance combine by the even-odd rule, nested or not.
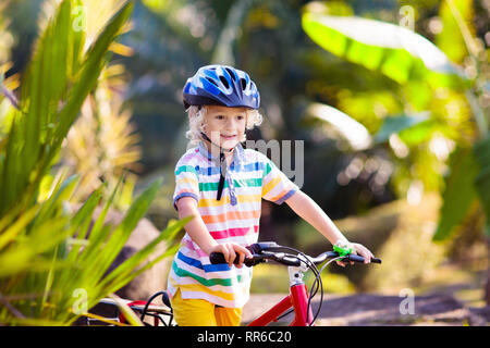
[[(286, 250), (289, 248), (281, 247), (273, 241), (262, 241), (256, 243), (246, 247), (252, 252), (252, 259), (245, 259), (244, 264), (246, 266), (254, 266), (258, 263), (265, 262), (266, 260), (273, 260), (278, 263), (284, 265), (299, 266), (305, 262), (299, 254), (284, 253), (281, 250)], [(289, 249), (291, 251), (291, 249)], [(333, 259), (340, 257), (336, 251), (326, 251), (317, 256), (316, 258), (308, 257), (309, 261), (315, 264), (320, 264), (327, 259)], [(224, 256), (221, 252), (211, 252), (209, 260), (212, 264), (226, 263)], [(364, 258), (358, 254), (347, 254), (343, 257), (345, 261), (354, 261), (364, 263)], [(240, 257), (237, 256), (233, 263), (237, 264), (240, 262)], [(372, 258), (371, 262), (381, 263), (381, 259)]]

